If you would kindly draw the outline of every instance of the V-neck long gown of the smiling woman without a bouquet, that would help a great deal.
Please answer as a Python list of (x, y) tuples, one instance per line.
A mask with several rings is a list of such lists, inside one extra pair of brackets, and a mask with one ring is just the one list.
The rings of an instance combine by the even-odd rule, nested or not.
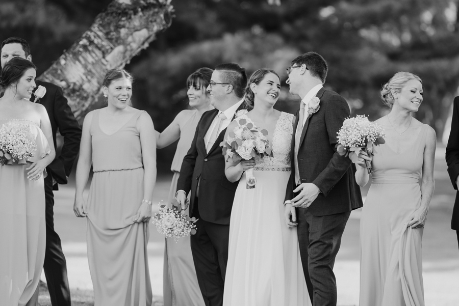
[(148, 222), (134, 222), (144, 190), (138, 110), (108, 135), (94, 110), (90, 135), (94, 175), (87, 202), (88, 261), (95, 306), (150, 306)]

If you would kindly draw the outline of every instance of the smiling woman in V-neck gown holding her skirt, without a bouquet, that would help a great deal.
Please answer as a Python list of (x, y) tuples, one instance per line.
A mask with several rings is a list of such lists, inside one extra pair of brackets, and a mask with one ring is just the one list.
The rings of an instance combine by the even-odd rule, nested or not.
[(95, 306), (152, 302), (147, 243), (156, 138), (150, 116), (130, 106), (132, 79), (123, 69), (109, 70), (102, 86), (108, 105), (88, 113), (83, 123), (73, 211), (87, 219)]

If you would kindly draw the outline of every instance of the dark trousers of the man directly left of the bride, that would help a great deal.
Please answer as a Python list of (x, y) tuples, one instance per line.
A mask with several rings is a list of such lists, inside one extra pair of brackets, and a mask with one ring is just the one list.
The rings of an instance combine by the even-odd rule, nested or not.
[(198, 220), (195, 223), (196, 234), (191, 235), (196, 276), (206, 306), (222, 306), (230, 226), (202, 220), (198, 202), (195, 198), (193, 215)]

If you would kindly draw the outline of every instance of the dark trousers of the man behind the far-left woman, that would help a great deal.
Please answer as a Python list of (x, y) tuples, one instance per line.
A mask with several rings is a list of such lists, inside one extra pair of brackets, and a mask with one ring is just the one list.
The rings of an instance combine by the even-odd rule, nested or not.
[(54, 193), (51, 175), (44, 179), (46, 200), (46, 253), (43, 270), (53, 306), (70, 306), (67, 263), (62, 252), (61, 238), (54, 230)]

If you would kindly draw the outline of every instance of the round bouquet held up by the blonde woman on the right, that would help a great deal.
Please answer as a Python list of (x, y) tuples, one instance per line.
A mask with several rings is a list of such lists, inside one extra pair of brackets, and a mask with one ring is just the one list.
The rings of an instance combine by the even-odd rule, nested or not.
[[(377, 123), (370, 122), (367, 116), (357, 115), (347, 118), (337, 132), (337, 152), (349, 156), (353, 163), (357, 162), (359, 151), (365, 150), (368, 156), (374, 155), (374, 146), (385, 144), (384, 129)], [(365, 162), (368, 173), (373, 173), (371, 163)]]

